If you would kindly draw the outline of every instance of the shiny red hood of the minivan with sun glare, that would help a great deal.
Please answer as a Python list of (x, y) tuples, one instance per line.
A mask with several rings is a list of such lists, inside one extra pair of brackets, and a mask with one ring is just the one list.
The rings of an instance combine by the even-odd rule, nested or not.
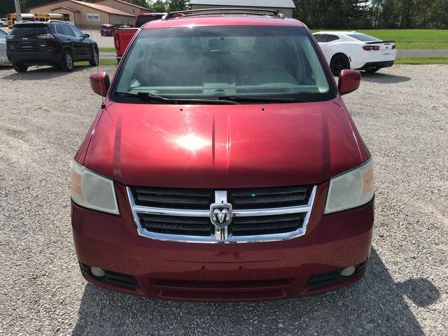
[(333, 101), (111, 103), (93, 131), (83, 164), (126, 186), (320, 183), (363, 161), (350, 120)]

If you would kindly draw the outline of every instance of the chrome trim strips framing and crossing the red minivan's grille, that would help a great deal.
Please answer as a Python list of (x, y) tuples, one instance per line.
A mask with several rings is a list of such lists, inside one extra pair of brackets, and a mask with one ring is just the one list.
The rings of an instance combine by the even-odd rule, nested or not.
[[(295, 231), (276, 233), (272, 235), (253, 235), (253, 236), (237, 236), (233, 237), (228, 235), (225, 240), (217, 240), (216, 232), (210, 236), (189, 236), (189, 235), (167, 235), (165, 233), (151, 232), (143, 228), (140, 224), (139, 216), (137, 214), (155, 214), (165, 216), (190, 216), (190, 217), (209, 217), (209, 210), (187, 210), (187, 209), (163, 209), (154, 207), (141, 207), (135, 204), (134, 197), (129, 187), (126, 187), (127, 198), (130, 202), (132, 216), (134, 217), (134, 223), (137, 226), (137, 233), (146, 238), (157, 239), (162, 241), (177, 241), (183, 243), (206, 243), (206, 244), (228, 244), (228, 243), (258, 243), (265, 241), (281, 241), (294, 239), (303, 236), (307, 232), (309, 218), (311, 217), (311, 210), (314, 205), (314, 199), (316, 197), (317, 186), (313, 187), (309, 202), (304, 206), (297, 207), (283, 207), (274, 209), (246, 209), (246, 210), (234, 210), (233, 216), (272, 216), (281, 214), (297, 214), (306, 212), (302, 228)], [(226, 195), (227, 198), (227, 195)], [(210, 223), (210, 225), (213, 225)]]

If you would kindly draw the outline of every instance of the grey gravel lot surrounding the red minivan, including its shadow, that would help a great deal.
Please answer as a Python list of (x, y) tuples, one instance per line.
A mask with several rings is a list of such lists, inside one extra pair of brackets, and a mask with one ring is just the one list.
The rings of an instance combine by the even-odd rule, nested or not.
[(363, 74), (345, 98), (375, 162), (365, 278), (315, 297), (223, 304), (85, 283), (71, 239), (69, 167), (100, 98), (91, 68), (30, 69), (0, 68), (1, 335), (447, 335), (448, 66)]

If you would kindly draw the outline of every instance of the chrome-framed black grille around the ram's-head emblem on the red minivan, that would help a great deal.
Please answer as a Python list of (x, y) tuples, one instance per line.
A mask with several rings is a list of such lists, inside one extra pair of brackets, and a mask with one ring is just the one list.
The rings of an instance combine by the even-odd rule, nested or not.
[[(160, 240), (231, 243), (275, 241), (304, 235), (316, 186), (238, 188), (127, 187), (139, 235)], [(218, 229), (212, 203), (232, 204), (232, 223)]]

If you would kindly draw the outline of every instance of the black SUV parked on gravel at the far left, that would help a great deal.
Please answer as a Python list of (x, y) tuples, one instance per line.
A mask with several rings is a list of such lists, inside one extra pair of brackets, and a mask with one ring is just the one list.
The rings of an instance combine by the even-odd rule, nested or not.
[(6, 38), (6, 54), (17, 72), (31, 65), (73, 70), (73, 62), (98, 64), (98, 45), (88, 34), (63, 21), (22, 22)]

